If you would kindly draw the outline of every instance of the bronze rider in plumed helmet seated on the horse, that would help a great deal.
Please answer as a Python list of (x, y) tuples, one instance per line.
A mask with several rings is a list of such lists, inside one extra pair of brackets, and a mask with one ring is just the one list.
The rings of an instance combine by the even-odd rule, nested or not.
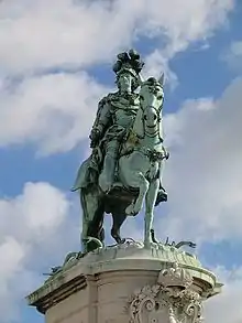
[(103, 192), (109, 192), (112, 187), (121, 143), (125, 140), (140, 106), (139, 94), (134, 90), (141, 84), (139, 73), (143, 65), (140, 55), (133, 50), (119, 54), (113, 66), (118, 91), (109, 94), (99, 103), (90, 133), (90, 147), (99, 147), (102, 152), (99, 185)]

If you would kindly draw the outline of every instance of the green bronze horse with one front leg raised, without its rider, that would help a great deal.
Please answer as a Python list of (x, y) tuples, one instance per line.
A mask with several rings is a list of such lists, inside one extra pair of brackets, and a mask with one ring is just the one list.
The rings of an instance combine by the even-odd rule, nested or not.
[[(128, 139), (122, 144), (118, 161), (118, 181), (111, 191), (105, 194), (99, 187), (98, 171), (87, 159), (78, 172), (79, 183), (86, 183), (87, 172), (96, 177), (92, 184), (75, 184), (73, 191), (80, 190), (82, 207), (82, 248), (86, 251), (97, 247), (88, 237), (105, 240), (105, 213), (111, 214), (113, 225), (111, 236), (118, 244), (124, 243), (120, 236), (120, 228), (127, 216), (135, 216), (142, 209), (145, 201), (144, 245), (151, 246), (154, 207), (162, 187), (164, 160), (168, 158), (163, 146), (162, 109), (164, 100), (164, 75), (156, 80), (150, 77), (143, 82), (140, 89), (140, 108), (134, 123), (129, 130)], [(160, 196), (161, 197), (161, 196)], [(166, 201), (166, 197), (160, 198)], [(158, 201), (160, 202), (160, 201)]]

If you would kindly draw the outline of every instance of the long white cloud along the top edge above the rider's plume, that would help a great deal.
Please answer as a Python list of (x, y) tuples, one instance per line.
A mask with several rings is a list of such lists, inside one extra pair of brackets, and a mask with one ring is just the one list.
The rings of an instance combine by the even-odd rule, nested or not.
[[(224, 24), (234, 0), (4, 1), (0, 69), (108, 62), (139, 36), (167, 40), (168, 58)], [(177, 10), (174, 10), (176, 8)], [(111, 24), (111, 28), (110, 28)]]

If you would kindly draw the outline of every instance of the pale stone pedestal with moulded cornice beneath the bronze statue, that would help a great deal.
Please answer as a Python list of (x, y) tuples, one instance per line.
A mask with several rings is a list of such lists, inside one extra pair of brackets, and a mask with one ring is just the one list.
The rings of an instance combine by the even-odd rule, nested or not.
[(70, 258), (28, 301), (46, 323), (199, 323), (221, 286), (190, 254), (130, 243)]

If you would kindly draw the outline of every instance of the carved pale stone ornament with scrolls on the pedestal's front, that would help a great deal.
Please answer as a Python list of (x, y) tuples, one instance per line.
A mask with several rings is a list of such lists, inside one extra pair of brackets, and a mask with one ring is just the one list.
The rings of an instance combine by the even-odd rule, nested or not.
[(130, 323), (201, 323), (200, 295), (190, 289), (193, 277), (177, 263), (162, 270), (157, 283), (134, 292)]

